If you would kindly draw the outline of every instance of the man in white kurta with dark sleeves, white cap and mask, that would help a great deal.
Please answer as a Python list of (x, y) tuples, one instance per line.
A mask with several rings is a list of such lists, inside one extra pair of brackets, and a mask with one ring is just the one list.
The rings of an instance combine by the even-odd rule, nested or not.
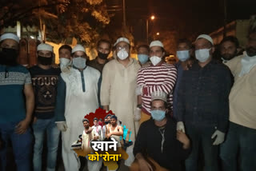
[(86, 66), (86, 51), (80, 46), (72, 50), (73, 67), (62, 73), (58, 81), (56, 123), (62, 131), (62, 159), (65, 170), (77, 171), (80, 161), (70, 148), (84, 130), (81, 121), (98, 109), (98, 70)]

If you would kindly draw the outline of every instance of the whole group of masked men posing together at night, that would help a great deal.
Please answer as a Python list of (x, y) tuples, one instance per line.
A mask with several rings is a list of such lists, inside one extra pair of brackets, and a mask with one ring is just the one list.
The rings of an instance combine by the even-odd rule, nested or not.
[(32, 151), (34, 170), (42, 170), (44, 133), (46, 169), (55, 170), (62, 133), (64, 167), (79, 170), (70, 146), (82, 131), (89, 133), (89, 121), (81, 121), (99, 106), (112, 110), (132, 132), (134, 145), (126, 149), (125, 161), (130, 170), (182, 170), (182, 161), (187, 171), (198, 170), (201, 147), (206, 171), (219, 170), (219, 158), (225, 171), (256, 168), (256, 30), (240, 56), (237, 39), (224, 38), (218, 57), (223, 63), (214, 59), (209, 35), (199, 35), (194, 49), (181, 39), (175, 66), (164, 61), (160, 41), (138, 46), (137, 61), (130, 58), (130, 41), (118, 38), (112, 60), (107, 40), (98, 42), (92, 61), (83, 46), (62, 46), (60, 69), (52, 66), (52, 46), (42, 43), (38, 65), (28, 71), (17, 63), (18, 43), (14, 34), (0, 38), (2, 170), (9, 141), (18, 170), (30, 170)]

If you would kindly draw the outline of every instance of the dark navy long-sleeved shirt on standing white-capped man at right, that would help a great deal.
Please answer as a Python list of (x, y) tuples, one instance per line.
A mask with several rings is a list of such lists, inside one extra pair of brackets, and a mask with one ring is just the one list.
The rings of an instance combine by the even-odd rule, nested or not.
[(195, 62), (184, 70), (178, 89), (177, 120), (185, 125), (214, 126), (226, 132), (229, 120), (231, 73), (212, 60), (203, 68)]

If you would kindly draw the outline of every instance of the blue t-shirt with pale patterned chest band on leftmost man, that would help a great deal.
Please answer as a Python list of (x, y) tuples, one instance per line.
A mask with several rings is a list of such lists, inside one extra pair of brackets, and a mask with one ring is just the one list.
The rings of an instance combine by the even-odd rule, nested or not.
[(0, 65), (0, 122), (18, 122), (26, 117), (24, 85), (31, 84), (24, 66)]

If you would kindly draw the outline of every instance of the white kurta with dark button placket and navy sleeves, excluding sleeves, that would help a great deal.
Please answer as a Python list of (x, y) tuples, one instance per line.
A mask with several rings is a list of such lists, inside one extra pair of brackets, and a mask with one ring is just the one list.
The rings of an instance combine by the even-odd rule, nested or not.
[[(65, 118), (67, 129), (62, 132), (62, 158), (67, 171), (76, 171), (80, 162), (74, 150), (70, 149), (72, 142), (78, 140), (84, 129), (82, 119), (86, 114), (98, 109), (98, 70), (87, 66), (82, 74), (79, 70), (70, 69), (70, 73), (62, 73), (66, 82)], [(85, 82), (85, 92), (82, 90), (82, 80)]]

